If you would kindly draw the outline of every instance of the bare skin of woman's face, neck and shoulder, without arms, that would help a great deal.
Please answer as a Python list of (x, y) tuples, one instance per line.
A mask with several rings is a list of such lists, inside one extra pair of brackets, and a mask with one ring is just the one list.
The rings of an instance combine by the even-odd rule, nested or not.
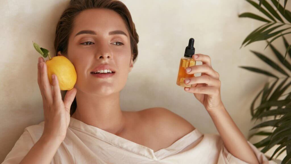
[[(81, 34), (75, 37), (81, 30), (93, 30), (97, 35)], [(121, 30), (127, 36), (108, 34), (114, 30)], [(120, 43), (117, 42), (123, 45), (118, 46)], [(58, 52), (58, 55), (62, 55), (61, 52)], [(133, 54), (130, 49), (129, 33), (118, 13), (108, 9), (81, 12), (74, 20), (74, 27), (69, 37), (68, 54), (64, 55), (74, 64), (78, 77), (74, 86), (77, 89), (78, 105), (72, 115), (73, 118), (148, 146), (154, 151), (170, 146), (195, 129), (182, 117), (164, 108), (156, 107), (141, 111), (120, 109), (120, 91), (125, 87), (128, 74), (133, 68)], [(90, 72), (100, 64), (111, 65), (116, 71), (115, 75), (107, 79), (92, 76)], [(166, 127), (160, 124), (163, 120), (157, 117), (162, 112), (168, 113), (169, 117), (177, 120), (177, 123), (184, 128), (168, 136), (169, 132), (164, 130)], [(167, 126), (177, 124), (167, 122)], [(151, 137), (148, 137), (149, 134)]]

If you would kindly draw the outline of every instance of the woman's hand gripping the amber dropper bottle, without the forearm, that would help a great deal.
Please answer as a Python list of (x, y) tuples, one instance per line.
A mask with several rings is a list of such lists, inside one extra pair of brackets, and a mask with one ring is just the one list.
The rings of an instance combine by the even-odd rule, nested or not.
[[(195, 58), (197, 55), (197, 58)], [(187, 74), (201, 73), (201, 76), (184, 79), (185, 84), (192, 84), (191, 87), (185, 87), (187, 92), (194, 93), (194, 96), (204, 105), (207, 111), (215, 111), (223, 106), (220, 97), (220, 86), (218, 72), (211, 67), (211, 60), (208, 55), (192, 55), (195, 61), (202, 61), (202, 65), (188, 67)], [(191, 68), (189, 72), (188, 69)], [(189, 90), (187, 90), (189, 88)]]

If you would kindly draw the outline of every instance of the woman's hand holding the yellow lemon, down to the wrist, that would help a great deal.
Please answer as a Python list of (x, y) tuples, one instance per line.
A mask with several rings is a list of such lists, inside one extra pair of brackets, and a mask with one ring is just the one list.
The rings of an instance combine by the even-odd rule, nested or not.
[(53, 85), (51, 85), (47, 75), (47, 65), (44, 59), (39, 57), (38, 86), (42, 95), (45, 119), (42, 136), (57, 139), (62, 142), (65, 139), (67, 128), (70, 123), (70, 108), (77, 93), (77, 89), (73, 88), (68, 90), (63, 101), (58, 78), (55, 75), (53, 76), (55, 78), (53, 78)]

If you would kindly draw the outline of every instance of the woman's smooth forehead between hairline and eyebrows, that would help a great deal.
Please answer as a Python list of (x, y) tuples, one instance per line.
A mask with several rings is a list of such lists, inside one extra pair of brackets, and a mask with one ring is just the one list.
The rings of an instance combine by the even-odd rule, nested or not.
[(109, 31), (123, 30), (127, 28), (123, 18), (110, 9), (88, 9), (79, 13), (74, 19), (73, 35), (81, 30), (93, 30), (97, 33), (108, 34)]

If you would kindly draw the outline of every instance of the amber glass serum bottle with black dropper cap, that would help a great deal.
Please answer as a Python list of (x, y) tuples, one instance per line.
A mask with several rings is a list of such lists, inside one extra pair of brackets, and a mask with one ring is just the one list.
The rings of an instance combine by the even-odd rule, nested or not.
[(194, 48), (194, 39), (189, 39), (189, 44), (185, 49), (184, 56), (180, 60), (180, 66), (179, 66), (179, 72), (177, 77), (177, 85), (182, 87), (191, 87), (189, 84), (184, 83), (185, 78), (194, 77), (194, 74), (187, 74), (186, 68), (194, 66), (196, 64), (196, 61), (193, 60), (192, 55), (195, 53)]

